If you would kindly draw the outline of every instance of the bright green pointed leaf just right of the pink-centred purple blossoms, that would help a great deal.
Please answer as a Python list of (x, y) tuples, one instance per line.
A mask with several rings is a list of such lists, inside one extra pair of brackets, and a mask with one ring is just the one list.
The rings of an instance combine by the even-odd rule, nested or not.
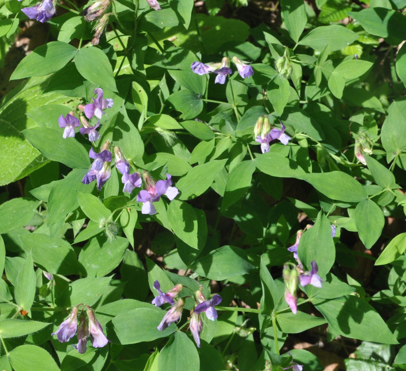
[(180, 191), (179, 200), (191, 200), (204, 193), (226, 162), (227, 160), (212, 160), (189, 170), (188, 174), (176, 183)]

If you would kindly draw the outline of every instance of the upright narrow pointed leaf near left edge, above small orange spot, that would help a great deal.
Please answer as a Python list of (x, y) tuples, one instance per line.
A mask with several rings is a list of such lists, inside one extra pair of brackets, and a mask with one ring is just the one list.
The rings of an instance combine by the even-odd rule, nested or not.
[(15, 280), (15, 302), (24, 310), (30, 311), (35, 296), (35, 278), (34, 263), (32, 262), (32, 254), (29, 252), (24, 264), (18, 272)]

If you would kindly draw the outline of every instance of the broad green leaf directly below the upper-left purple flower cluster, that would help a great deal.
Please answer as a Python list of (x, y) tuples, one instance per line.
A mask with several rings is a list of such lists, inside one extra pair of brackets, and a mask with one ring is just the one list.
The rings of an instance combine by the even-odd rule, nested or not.
[(34, 128), (22, 131), (27, 141), (45, 157), (72, 169), (89, 167), (89, 153), (75, 138), (63, 139), (63, 130)]

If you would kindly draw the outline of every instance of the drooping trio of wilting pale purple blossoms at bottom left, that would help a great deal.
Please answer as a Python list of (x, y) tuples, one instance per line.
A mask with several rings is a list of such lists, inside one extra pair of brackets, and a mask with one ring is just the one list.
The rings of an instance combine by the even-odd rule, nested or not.
[[(79, 306), (82, 306), (82, 311), (79, 317), (78, 326), (78, 312)], [(94, 310), (86, 305), (86, 315), (84, 314), (84, 304), (79, 304), (73, 307), (69, 317), (63, 321), (56, 332), (52, 335), (56, 335), (61, 343), (68, 342), (77, 333), (78, 344), (73, 347), (79, 353), (85, 353), (87, 347), (87, 338), (90, 335), (90, 341), (95, 348), (102, 348), (108, 343), (108, 339), (103, 333), (103, 328), (95, 317)]]

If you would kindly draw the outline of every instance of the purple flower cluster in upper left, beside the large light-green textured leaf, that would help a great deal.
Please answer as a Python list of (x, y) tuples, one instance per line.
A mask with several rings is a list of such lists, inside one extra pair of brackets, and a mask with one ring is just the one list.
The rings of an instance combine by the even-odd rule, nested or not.
[(100, 138), (100, 134), (97, 132), (97, 128), (100, 126), (100, 119), (105, 114), (104, 110), (106, 108), (111, 108), (113, 106), (113, 100), (103, 99), (103, 89), (96, 88), (94, 93), (97, 94), (96, 98), (93, 98), (93, 103), (86, 104), (86, 106), (80, 105), (78, 108), (84, 111), (86, 117), (90, 120), (93, 116), (97, 118), (97, 124), (91, 125), (83, 116), (80, 116), (80, 121), (75, 117), (74, 112), (69, 112), (66, 117), (60, 115), (58, 119), (58, 124), (60, 128), (65, 128), (63, 130), (63, 138), (75, 137), (75, 128), (80, 126), (82, 123), (83, 128), (79, 129), (80, 134), (87, 134), (89, 141), (95, 142)]

